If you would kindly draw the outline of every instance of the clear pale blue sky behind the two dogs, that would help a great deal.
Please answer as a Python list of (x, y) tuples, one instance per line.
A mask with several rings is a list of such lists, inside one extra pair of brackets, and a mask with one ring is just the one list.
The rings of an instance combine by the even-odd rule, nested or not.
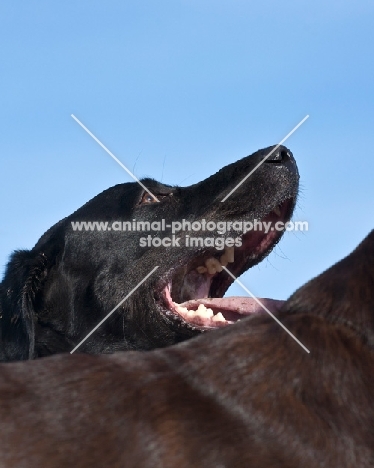
[(309, 231), (242, 277), (258, 296), (288, 297), (374, 228), (373, 2), (7, 1), (0, 22), (0, 274), (130, 181), (72, 113), (139, 178), (179, 185), (309, 114), (286, 143)]

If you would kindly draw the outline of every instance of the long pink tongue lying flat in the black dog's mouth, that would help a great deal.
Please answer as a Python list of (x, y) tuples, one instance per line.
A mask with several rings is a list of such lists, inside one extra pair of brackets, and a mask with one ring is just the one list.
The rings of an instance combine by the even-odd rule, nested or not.
[[(276, 299), (258, 298), (258, 301), (264, 305), (271, 313), (275, 313), (284, 301)], [(196, 310), (200, 304), (203, 304), (207, 309), (212, 309), (214, 312), (225, 312), (227, 314), (235, 313), (240, 315), (250, 315), (258, 313), (266, 313), (263, 307), (251, 297), (223, 297), (223, 298), (204, 298), (193, 299), (191, 301), (180, 304), (189, 310)]]

